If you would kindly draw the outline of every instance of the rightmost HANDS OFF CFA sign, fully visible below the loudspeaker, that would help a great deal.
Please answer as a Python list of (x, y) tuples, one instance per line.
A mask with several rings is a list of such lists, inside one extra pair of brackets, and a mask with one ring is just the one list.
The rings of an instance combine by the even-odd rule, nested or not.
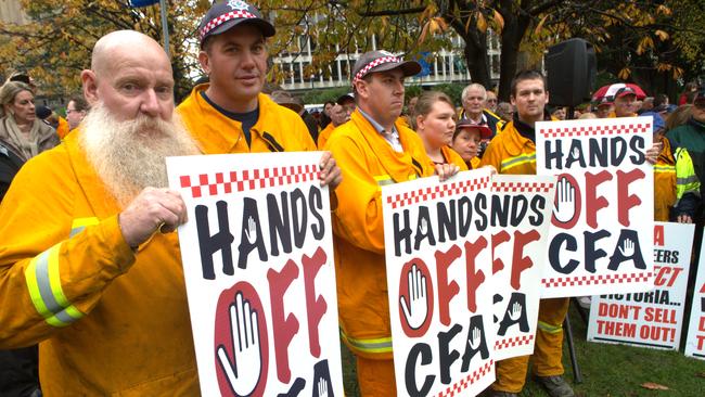
[(539, 175), (555, 187), (543, 297), (653, 286), (651, 117), (536, 124)]

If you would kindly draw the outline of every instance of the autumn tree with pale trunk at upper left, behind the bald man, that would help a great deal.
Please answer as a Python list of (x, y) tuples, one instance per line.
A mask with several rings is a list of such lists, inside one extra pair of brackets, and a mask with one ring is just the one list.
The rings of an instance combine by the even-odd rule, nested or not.
[[(196, 26), (210, 2), (168, 3), (176, 95), (182, 98), (197, 68)], [(90, 66), (93, 44), (112, 30), (134, 29), (163, 42), (158, 4), (140, 9), (131, 8), (127, 0), (23, 0), (22, 4), (29, 24), (0, 24), (0, 74), (27, 71), (44, 94), (76, 92), (80, 71)]]

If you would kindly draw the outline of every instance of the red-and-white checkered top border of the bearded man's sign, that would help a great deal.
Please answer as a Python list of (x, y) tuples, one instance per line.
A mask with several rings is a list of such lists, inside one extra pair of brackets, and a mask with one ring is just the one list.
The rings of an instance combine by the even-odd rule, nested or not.
[(228, 194), (255, 189), (282, 187), (318, 180), (318, 165), (245, 169), (229, 172), (184, 175), (179, 177), (181, 189), (191, 192), (193, 198)]

